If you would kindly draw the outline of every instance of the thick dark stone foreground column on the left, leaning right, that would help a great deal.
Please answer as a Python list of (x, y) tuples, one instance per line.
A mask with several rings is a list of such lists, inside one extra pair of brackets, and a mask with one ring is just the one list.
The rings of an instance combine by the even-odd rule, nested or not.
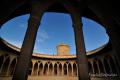
[(33, 11), (30, 15), (27, 32), (23, 41), (20, 56), (18, 57), (18, 62), (12, 80), (27, 80), (29, 63), (31, 61), (41, 17), (42, 15), (39, 11)]

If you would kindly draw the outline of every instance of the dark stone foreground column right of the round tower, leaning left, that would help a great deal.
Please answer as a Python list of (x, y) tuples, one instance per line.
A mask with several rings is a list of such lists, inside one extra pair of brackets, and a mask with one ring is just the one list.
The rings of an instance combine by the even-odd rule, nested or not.
[(88, 60), (85, 50), (81, 17), (77, 14), (74, 14), (71, 17), (73, 20), (73, 28), (75, 35), (78, 77), (79, 80), (89, 80)]

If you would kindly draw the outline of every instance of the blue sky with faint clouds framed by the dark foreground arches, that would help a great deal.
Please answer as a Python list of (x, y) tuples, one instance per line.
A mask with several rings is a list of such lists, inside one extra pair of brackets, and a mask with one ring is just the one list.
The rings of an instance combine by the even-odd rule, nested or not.
[[(27, 29), (29, 15), (22, 15), (6, 22), (0, 36), (11, 44), (21, 47)], [(94, 50), (108, 42), (105, 29), (96, 22), (82, 18), (86, 50)], [(69, 14), (45, 13), (40, 22), (34, 52), (56, 54), (56, 46), (65, 43), (70, 46), (70, 53), (75, 54), (75, 40), (72, 20)]]

